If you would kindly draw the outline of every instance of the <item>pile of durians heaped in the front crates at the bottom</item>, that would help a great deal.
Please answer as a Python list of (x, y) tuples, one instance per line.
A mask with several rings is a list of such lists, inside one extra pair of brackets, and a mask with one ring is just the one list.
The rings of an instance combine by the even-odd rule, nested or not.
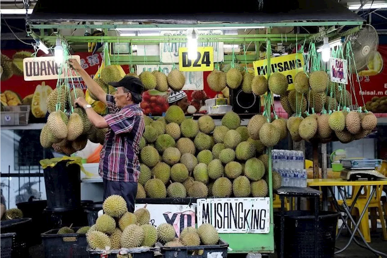
[(102, 207), (104, 214), (97, 218), (86, 233), (91, 249), (105, 249), (107, 246), (113, 250), (153, 247), (158, 241), (170, 247), (199, 246), (200, 243), (213, 245), (219, 242), (218, 233), (210, 224), (203, 224), (197, 230), (186, 228), (176, 238), (171, 224), (163, 223), (157, 228), (149, 224), (151, 217), (146, 205), (134, 213), (128, 212), (126, 201), (119, 195), (106, 198)]

